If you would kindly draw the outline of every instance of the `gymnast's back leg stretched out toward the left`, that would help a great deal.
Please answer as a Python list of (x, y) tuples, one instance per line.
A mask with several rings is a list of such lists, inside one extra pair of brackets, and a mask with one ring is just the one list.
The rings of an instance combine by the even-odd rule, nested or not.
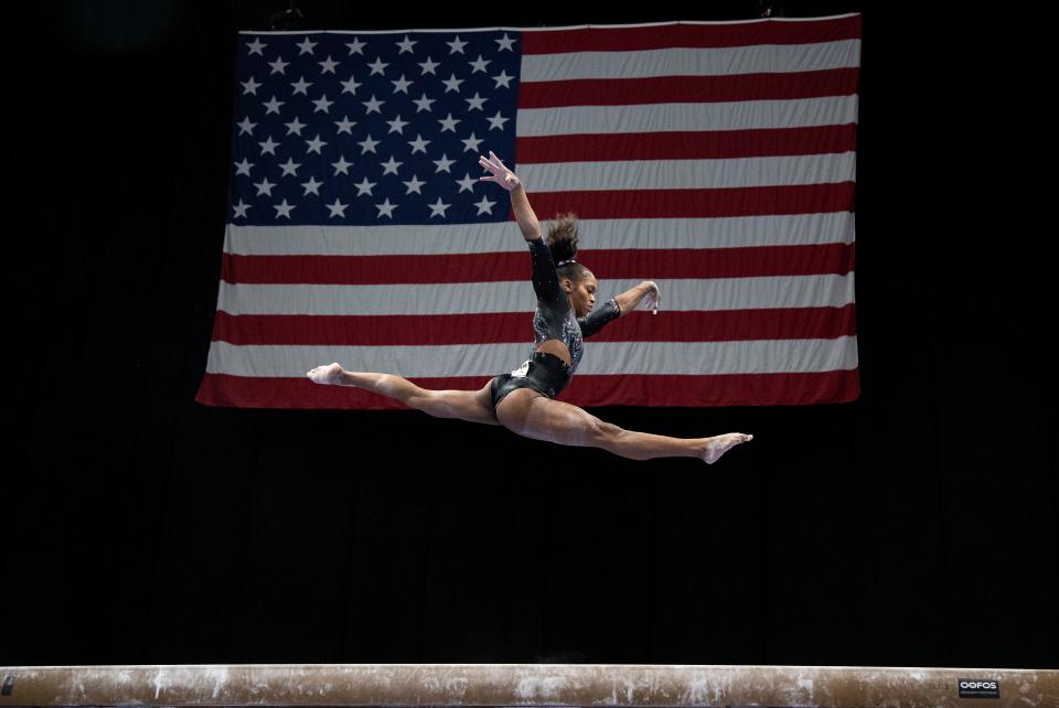
[(347, 372), (338, 363), (317, 366), (306, 376), (318, 384), (355, 386), (396, 398), (409, 408), (421, 410), (435, 418), (459, 418), (471, 422), (500, 425), (493, 411), (489, 384), (479, 390), (430, 390), (394, 374)]

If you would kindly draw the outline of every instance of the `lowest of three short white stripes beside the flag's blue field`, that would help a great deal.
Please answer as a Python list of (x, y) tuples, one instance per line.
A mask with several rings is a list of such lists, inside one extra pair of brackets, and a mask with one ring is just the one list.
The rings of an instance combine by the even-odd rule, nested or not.
[(542, 192), (597, 190), (721, 190), (853, 181), (856, 153), (741, 158), (738, 160), (634, 160), (524, 164), (518, 175)]

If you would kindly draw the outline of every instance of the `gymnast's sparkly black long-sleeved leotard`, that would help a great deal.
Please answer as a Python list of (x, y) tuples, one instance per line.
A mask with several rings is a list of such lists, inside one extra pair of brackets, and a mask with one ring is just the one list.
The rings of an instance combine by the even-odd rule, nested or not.
[[(533, 289), (537, 293), (537, 311), (533, 315), (534, 348), (520, 368), (493, 378), (490, 390), (494, 407), (515, 388), (533, 388), (555, 398), (581, 362), (582, 339), (621, 315), (618, 301), (611, 298), (584, 318), (574, 317), (569, 296), (559, 286), (555, 261), (544, 238), (526, 243), (533, 260)], [(566, 344), (570, 352), (569, 364), (555, 354), (536, 351), (547, 340)]]

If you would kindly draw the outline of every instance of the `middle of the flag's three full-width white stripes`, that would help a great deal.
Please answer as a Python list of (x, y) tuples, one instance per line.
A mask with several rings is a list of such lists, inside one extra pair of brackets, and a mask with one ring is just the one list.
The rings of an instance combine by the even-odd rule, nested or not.
[[(598, 298), (624, 292), (640, 280), (600, 280)], [(854, 302), (853, 273), (770, 278), (681, 278), (655, 280), (666, 311), (761, 308), (841, 308)], [(526, 281), (385, 286), (232, 285), (221, 281), (217, 309), (229, 314), (474, 314), (533, 312)]]

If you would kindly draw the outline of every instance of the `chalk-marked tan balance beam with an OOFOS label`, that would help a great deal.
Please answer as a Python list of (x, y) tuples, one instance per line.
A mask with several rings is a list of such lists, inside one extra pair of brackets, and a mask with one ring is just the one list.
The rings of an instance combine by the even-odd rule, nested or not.
[(849, 666), (240, 664), (0, 667), (7, 706), (1056, 708), (1059, 672)]

